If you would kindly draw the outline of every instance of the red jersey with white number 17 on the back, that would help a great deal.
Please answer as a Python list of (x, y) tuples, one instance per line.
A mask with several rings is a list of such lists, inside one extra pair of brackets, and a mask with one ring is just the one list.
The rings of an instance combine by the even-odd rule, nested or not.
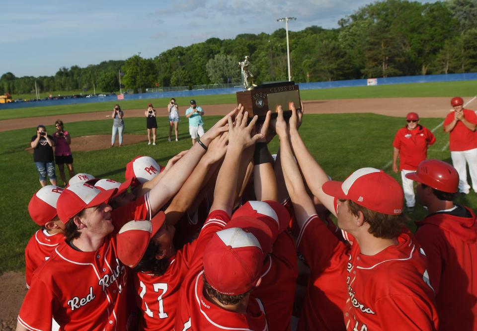
[(197, 241), (169, 259), (163, 275), (134, 272), (136, 303), (142, 312), (140, 330), (173, 330), (179, 289), (189, 271)]

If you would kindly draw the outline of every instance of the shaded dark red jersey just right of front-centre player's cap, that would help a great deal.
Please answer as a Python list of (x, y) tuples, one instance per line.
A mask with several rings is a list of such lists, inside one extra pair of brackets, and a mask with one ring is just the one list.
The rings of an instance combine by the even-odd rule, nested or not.
[(272, 252), (263, 265), (262, 281), (253, 289), (253, 295), (260, 298), (267, 315), (273, 317), (268, 321), (272, 331), (290, 330), (297, 277), (295, 243), (285, 231), (278, 235), (273, 244)]

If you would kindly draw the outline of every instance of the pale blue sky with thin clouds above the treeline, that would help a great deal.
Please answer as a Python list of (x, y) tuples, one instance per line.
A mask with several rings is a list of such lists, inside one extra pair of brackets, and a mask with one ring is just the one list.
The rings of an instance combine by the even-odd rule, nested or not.
[[(3, 3), (2, 3), (3, 2)], [(54, 75), (60, 67), (153, 58), (211, 37), (337, 27), (370, 0), (0, 1), (0, 75)], [(425, 2), (425, 1), (421, 1)], [(427, 1), (431, 2), (431, 1)]]

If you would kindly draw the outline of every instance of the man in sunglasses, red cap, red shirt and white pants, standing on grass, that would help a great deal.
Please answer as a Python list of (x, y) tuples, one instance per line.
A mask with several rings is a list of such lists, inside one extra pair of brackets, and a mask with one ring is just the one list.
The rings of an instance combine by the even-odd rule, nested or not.
[(393, 171), (397, 172), (397, 157), (399, 157), (406, 207), (407, 211), (412, 213), (416, 199), (413, 181), (406, 178), (406, 173), (416, 171), (417, 165), (427, 159), (427, 147), (435, 143), (436, 137), (419, 124), (419, 115), (416, 113), (408, 113), (406, 121), (406, 126), (397, 130), (394, 138)]

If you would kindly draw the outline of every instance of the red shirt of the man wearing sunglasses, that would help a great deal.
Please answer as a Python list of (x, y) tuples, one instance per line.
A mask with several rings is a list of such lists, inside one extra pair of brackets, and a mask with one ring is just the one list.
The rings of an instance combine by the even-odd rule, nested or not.
[(417, 170), (417, 165), (427, 159), (427, 146), (435, 141), (432, 132), (421, 125), (414, 130), (400, 128), (393, 141), (399, 150), (399, 170)]

